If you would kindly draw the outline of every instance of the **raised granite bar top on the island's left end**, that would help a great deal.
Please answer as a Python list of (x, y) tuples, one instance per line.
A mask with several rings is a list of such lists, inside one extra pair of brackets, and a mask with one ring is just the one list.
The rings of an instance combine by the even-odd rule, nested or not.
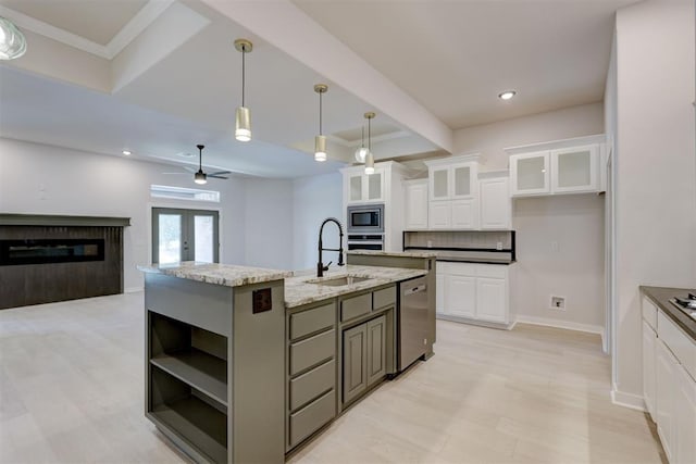
[(290, 271), (237, 266), (234, 264), (197, 263), (184, 261), (176, 264), (138, 266), (144, 273), (159, 273), (167, 276), (202, 281), (206, 284), (240, 287), (250, 284), (279, 280), (293, 275)]

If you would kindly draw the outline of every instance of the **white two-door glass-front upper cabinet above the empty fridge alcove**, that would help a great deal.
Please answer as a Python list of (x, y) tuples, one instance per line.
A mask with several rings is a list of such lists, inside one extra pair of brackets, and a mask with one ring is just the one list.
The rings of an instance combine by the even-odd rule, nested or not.
[(605, 136), (506, 149), (510, 196), (597, 192), (602, 189)]

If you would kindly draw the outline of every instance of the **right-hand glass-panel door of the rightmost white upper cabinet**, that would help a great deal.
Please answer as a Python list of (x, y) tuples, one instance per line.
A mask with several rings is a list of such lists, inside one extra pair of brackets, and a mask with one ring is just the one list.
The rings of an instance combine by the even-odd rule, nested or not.
[(552, 150), (550, 158), (554, 193), (599, 189), (599, 146)]

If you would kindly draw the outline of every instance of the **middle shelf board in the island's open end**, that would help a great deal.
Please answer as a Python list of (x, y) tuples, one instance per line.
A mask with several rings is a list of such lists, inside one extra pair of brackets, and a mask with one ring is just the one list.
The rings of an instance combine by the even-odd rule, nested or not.
[(159, 354), (150, 363), (227, 406), (227, 362), (191, 348), (190, 351)]

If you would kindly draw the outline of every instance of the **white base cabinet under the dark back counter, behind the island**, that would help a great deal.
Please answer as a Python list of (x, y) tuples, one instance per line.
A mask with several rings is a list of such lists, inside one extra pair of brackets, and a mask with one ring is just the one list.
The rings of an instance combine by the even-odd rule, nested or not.
[(510, 280), (513, 265), (437, 263), (440, 318), (511, 327)]

